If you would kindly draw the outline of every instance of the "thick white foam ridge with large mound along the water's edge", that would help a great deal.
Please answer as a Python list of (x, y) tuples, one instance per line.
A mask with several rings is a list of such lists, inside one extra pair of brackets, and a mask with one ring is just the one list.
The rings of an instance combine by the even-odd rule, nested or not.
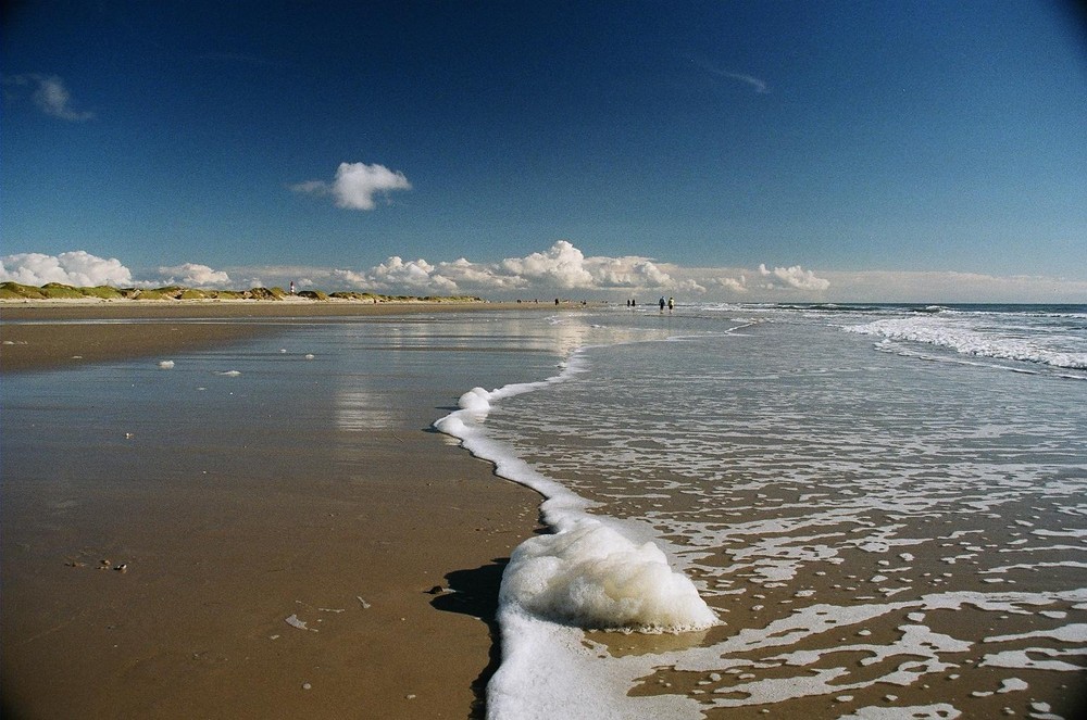
[[(540, 382), (461, 395), (460, 409), (435, 422), (496, 472), (547, 497), (540, 506), (553, 534), (516, 547), (500, 591), (502, 664), (488, 684), (491, 718), (697, 718), (686, 697), (616, 698), (598, 683), (608, 666), (586, 649), (584, 629), (682, 632), (717, 623), (695, 584), (674, 571), (646, 527), (590, 516), (592, 505), (488, 437), (492, 403), (540, 390), (584, 369), (574, 354), (560, 375)], [(607, 671), (607, 670), (605, 670)], [(621, 672), (616, 684), (625, 682)]]

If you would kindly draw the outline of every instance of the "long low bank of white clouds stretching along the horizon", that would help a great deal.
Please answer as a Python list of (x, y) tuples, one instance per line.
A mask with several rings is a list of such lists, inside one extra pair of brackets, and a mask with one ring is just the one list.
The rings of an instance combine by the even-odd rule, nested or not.
[[(1087, 279), (991, 276), (955, 271), (834, 271), (816, 276), (801, 266), (754, 270), (738, 267), (685, 267), (637, 255), (586, 256), (566, 240), (544, 252), (497, 263), (465, 257), (430, 263), (392, 256), (367, 270), (311, 266), (232, 267), (216, 270), (185, 263), (158, 268), (159, 277), (134, 280), (116, 258), (85, 251), (58, 255), (22, 253), (0, 257), (0, 281), (41, 286), (112, 285), (147, 287), (173, 282), (189, 287), (245, 289), (258, 286), (358, 289), (385, 294), (479, 295), (489, 299), (641, 298), (674, 294), (684, 301), (742, 302), (1049, 302), (1084, 303)], [(236, 278), (232, 281), (232, 278)]]

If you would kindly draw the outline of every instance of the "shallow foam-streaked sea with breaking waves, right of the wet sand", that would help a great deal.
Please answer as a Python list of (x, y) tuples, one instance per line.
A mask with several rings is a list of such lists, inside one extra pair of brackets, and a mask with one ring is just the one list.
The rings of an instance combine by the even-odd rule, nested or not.
[(538, 324), (435, 426), (547, 498), (488, 717), (1084, 717), (1087, 306)]

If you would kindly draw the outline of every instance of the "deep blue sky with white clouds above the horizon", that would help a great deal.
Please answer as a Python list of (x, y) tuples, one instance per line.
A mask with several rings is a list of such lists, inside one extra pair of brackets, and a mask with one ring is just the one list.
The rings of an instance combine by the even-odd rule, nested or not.
[(1073, 4), (9, 4), (3, 279), (1087, 302)]

